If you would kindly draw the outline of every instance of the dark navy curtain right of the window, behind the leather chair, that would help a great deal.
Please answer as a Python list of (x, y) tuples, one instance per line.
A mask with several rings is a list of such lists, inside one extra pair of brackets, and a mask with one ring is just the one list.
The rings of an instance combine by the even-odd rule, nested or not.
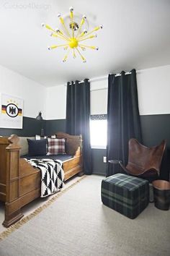
[[(128, 141), (136, 138), (142, 142), (138, 110), (136, 72), (121, 72), (120, 76), (109, 74), (107, 102), (107, 160), (128, 163)], [(113, 166), (108, 163), (107, 176), (112, 175)], [(118, 165), (115, 172), (123, 172)]]

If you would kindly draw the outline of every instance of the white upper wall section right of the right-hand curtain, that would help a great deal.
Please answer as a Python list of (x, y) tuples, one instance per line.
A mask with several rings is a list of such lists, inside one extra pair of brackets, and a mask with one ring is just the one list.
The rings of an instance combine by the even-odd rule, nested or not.
[(170, 114), (170, 65), (137, 74), (140, 115)]

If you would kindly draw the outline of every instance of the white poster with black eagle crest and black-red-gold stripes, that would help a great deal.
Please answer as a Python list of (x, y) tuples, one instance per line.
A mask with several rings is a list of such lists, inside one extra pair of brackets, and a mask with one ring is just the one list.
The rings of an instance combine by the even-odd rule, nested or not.
[(1, 93), (0, 127), (22, 129), (23, 100)]

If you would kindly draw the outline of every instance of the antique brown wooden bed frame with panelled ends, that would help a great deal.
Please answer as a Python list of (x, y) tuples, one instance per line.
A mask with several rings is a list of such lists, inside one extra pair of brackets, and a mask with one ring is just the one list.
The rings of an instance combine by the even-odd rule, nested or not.
[[(65, 181), (82, 170), (81, 136), (56, 133), (58, 138), (66, 138), (66, 153), (73, 158), (63, 161)], [(19, 137), (0, 137), (0, 200), (5, 202), (3, 225), (9, 227), (24, 215), (21, 208), (40, 197), (41, 174), (23, 158), (20, 158)]]

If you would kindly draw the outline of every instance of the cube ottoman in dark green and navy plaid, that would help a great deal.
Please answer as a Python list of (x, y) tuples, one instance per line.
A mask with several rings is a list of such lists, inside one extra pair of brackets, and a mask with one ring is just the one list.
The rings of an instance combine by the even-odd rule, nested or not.
[(126, 174), (109, 176), (102, 180), (102, 202), (128, 218), (135, 218), (148, 205), (148, 181)]

